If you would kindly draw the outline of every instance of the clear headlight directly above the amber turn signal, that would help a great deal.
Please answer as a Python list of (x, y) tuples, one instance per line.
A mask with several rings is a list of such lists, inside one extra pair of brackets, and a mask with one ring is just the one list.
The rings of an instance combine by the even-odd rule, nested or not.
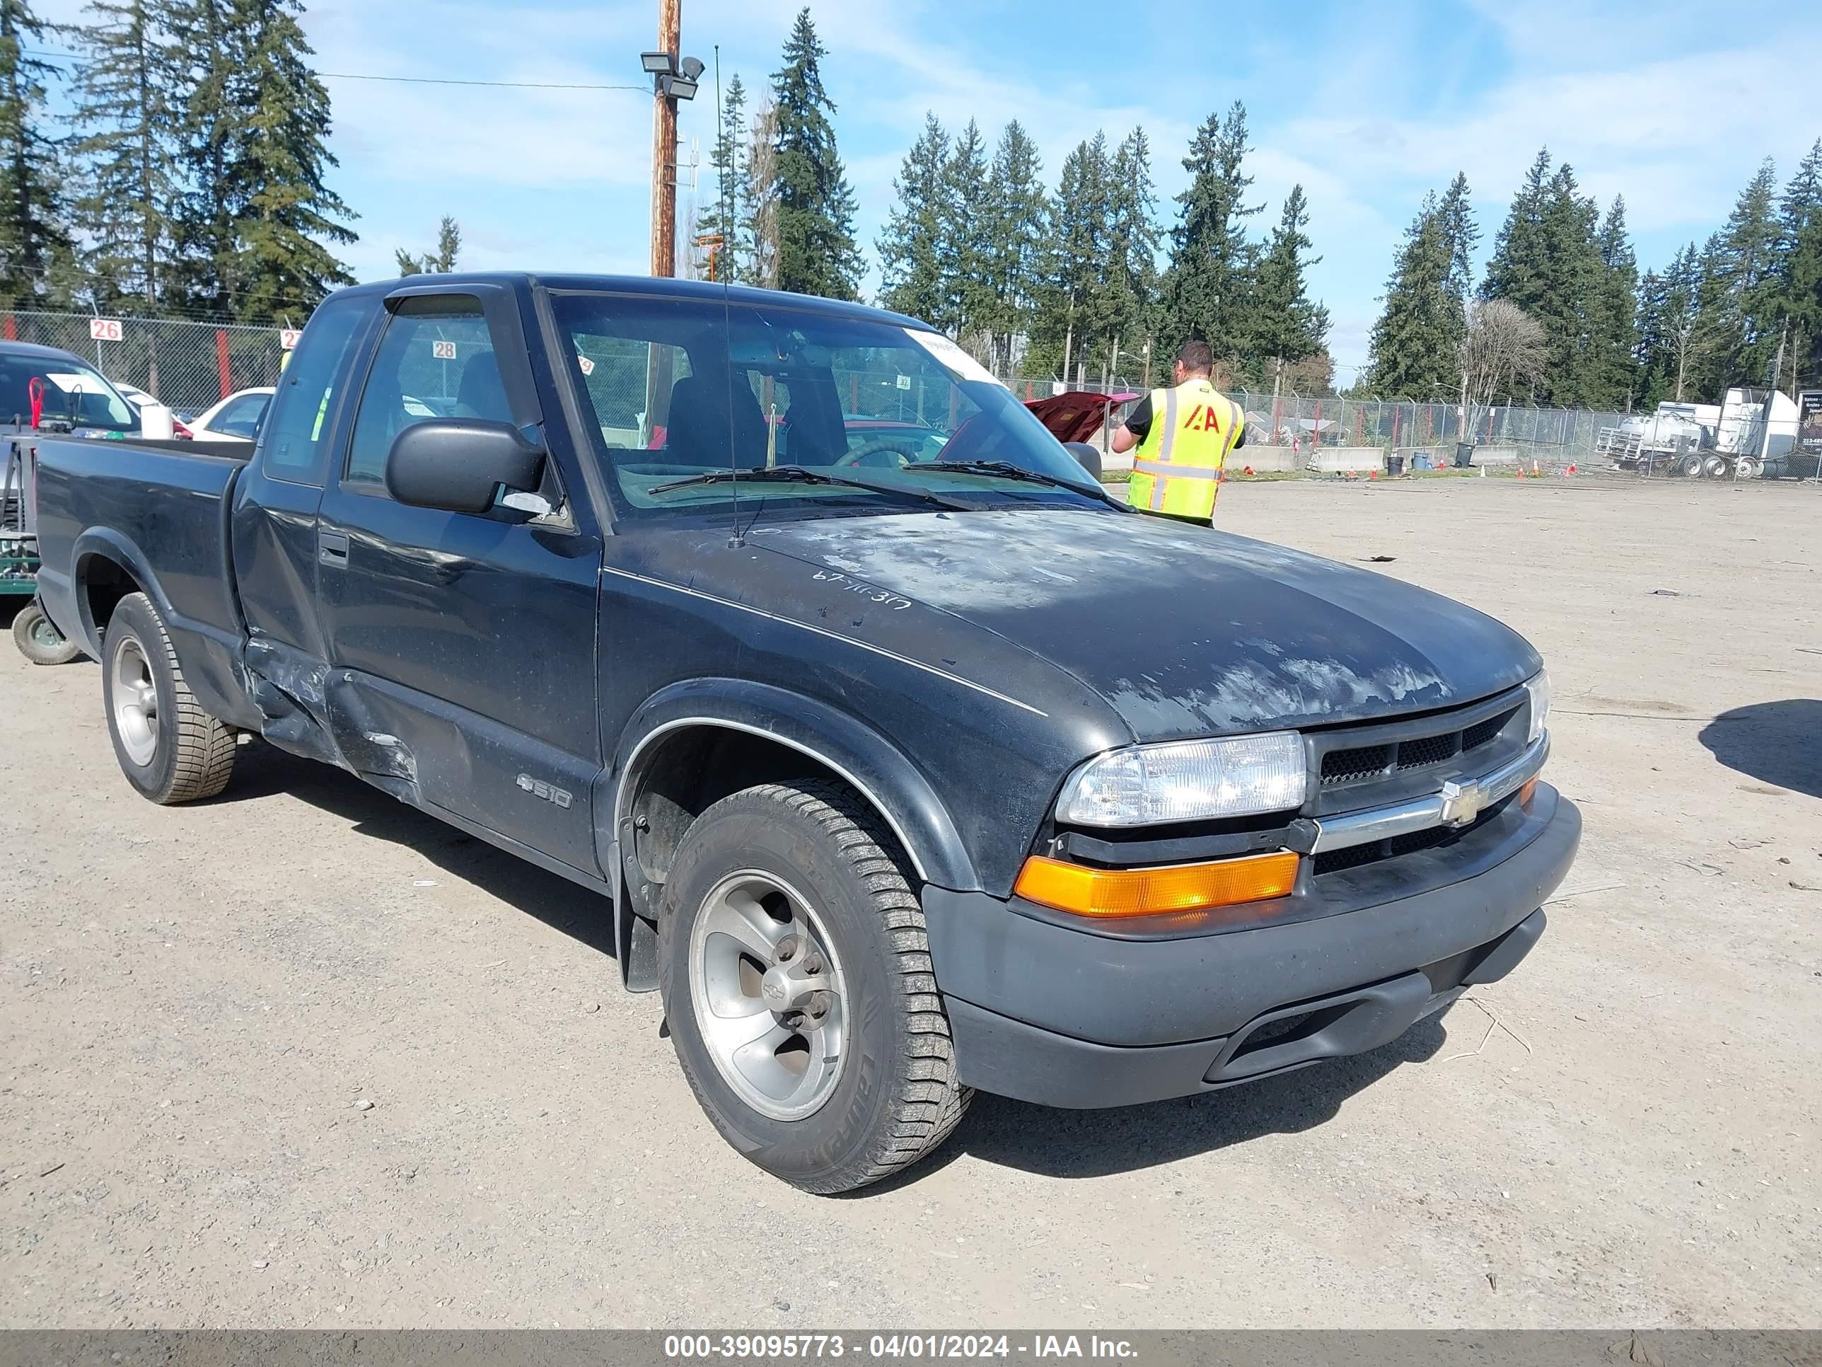
[(1099, 755), (1062, 786), (1066, 826), (1162, 826), (1303, 806), (1303, 736), (1268, 731), (1228, 740), (1173, 740)]

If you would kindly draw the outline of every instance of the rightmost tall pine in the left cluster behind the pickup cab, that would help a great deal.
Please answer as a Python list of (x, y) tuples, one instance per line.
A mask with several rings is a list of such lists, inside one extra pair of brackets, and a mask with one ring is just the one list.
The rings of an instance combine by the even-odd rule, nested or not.
[(353, 277), (328, 244), (353, 242), (353, 211), (326, 184), (330, 93), (310, 69), (297, 22), (302, 0), (235, 0), (246, 35), (237, 77), (239, 128), (228, 180), (242, 252), (237, 312), (257, 323), (297, 317)]

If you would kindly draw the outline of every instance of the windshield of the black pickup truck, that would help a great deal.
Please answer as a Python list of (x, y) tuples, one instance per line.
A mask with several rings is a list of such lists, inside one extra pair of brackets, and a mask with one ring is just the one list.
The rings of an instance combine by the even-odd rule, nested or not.
[[(623, 512), (1106, 507), (1042, 423), (946, 337), (751, 304), (556, 295), (609, 485)], [(1064, 481), (957, 470), (1004, 463)], [(692, 479), (800, 467), (867, 485)], [(922, 467), (922, 468), (920, 468)]]

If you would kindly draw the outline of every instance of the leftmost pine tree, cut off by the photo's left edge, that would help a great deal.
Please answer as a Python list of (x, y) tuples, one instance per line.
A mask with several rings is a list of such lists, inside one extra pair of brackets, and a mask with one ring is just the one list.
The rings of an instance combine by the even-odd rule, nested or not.
[(44, 131), (46, 87), (56, 67), (24, 51), (51, 26), (27, 0), (0, 0), (0, 301), (7, 308), (62, 303), (53, 266), (69, 259), (56, 142)]

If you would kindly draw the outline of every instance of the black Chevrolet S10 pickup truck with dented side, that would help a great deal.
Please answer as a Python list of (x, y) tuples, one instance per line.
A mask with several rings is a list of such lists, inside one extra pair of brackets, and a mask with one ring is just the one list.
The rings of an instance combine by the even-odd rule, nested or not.
[(1521, 638), (1130, 512), (913, 319), (357, 286), (244, 452), (38, 447), (128, 780), (213, 797), (250, 733), (594, 889), (711, 1121), (807, 1190), (973, 1088), (1385, 1044), (1507, 973), (1576, 853)]

